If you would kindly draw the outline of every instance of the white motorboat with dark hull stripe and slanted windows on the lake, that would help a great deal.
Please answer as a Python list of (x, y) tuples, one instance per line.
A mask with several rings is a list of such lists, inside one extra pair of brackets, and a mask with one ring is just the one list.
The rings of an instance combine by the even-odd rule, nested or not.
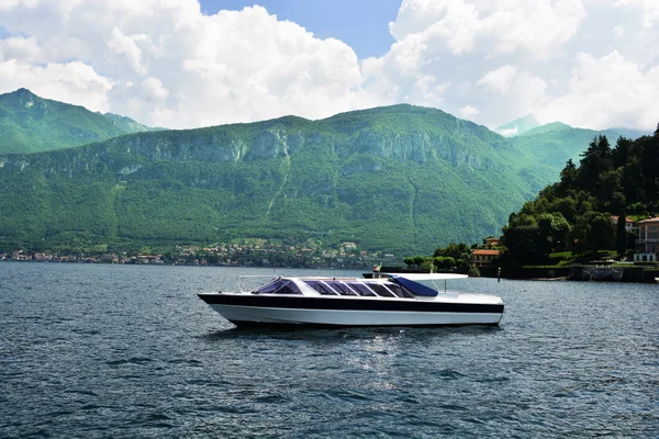
[(238, 280), (238, 292), (200, 293), (199, 297), (236, 326), (499, 325), (504, 308), (496, 295), (447, 290), (447, 281), (466, 274), (269, 277), (255, 289), (245, 288), (244, 278)]

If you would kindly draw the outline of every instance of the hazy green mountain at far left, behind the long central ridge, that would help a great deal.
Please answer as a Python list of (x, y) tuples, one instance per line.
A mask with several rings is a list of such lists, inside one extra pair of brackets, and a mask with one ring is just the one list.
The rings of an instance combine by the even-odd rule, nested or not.
[(0, 154), (68, 148), (146, 130), (142, 127), (127, 117), (43, 99), (27, 89), (0, 94)]

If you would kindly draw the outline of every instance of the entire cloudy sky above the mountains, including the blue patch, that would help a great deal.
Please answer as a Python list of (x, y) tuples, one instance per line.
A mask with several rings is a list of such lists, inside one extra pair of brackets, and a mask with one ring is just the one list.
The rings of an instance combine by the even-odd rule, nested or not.
[(659, 122), (657, 0), (0, 0), (0, 93), (192, 128), (396, 103)]

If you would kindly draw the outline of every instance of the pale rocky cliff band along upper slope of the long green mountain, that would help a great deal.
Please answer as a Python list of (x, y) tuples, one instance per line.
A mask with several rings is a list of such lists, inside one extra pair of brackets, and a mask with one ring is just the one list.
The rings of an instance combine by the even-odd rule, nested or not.
[[(319, 133), (306, 134), (288, 128), (259, 132), (254, 140), (220, 130), (193, 132), (141, 133), (116, 137), (102, 144), (67, 149), (47, 155), (49, 164), (44, 176), (87, 172), (91, 161), (101, 161), (118, 178), (138, 172), (145, 165), (158, 161), (209, 161), (214, 164), (268, 160), (294, 156), (304, 148), (319, 147), (343, 158), (340, 175), (371, 172), (381, 169), (382, 160), (426, 164), (444, 161), (460, 168), (489, 170), (496, 165), (490, 157), (471, 151), (451, 136), (427, 132), (388, 134), (372, 130), (359, 131), (348, 142), (337, 142)], [(350, 157), (358, 156), (358, 160)], [(38, 155), (8, 155), (0, 157), (0, 167), (23, 170)], [(367, 159), (365, 157), (370, 157)], [(380, 160), (377, 160), (377, 159)], [(94, 165), (92, 165), (93, 167)]]

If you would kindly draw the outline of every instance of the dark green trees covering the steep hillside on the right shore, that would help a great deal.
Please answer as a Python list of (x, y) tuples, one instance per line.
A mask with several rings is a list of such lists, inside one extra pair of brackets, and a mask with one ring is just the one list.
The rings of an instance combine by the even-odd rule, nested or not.
[(619, 137), (613, 149), (596, 136), (579, 167), (568, 160), (560, 182), (510, 215), (502, 237), (509, 252), (502, 258), (525, 262), (569, 247), (576, 254), (615, 248), (623, 256), (635, 237), (625, 229), (626, 215), (658, 211), (659, 124), (654, 136)]

